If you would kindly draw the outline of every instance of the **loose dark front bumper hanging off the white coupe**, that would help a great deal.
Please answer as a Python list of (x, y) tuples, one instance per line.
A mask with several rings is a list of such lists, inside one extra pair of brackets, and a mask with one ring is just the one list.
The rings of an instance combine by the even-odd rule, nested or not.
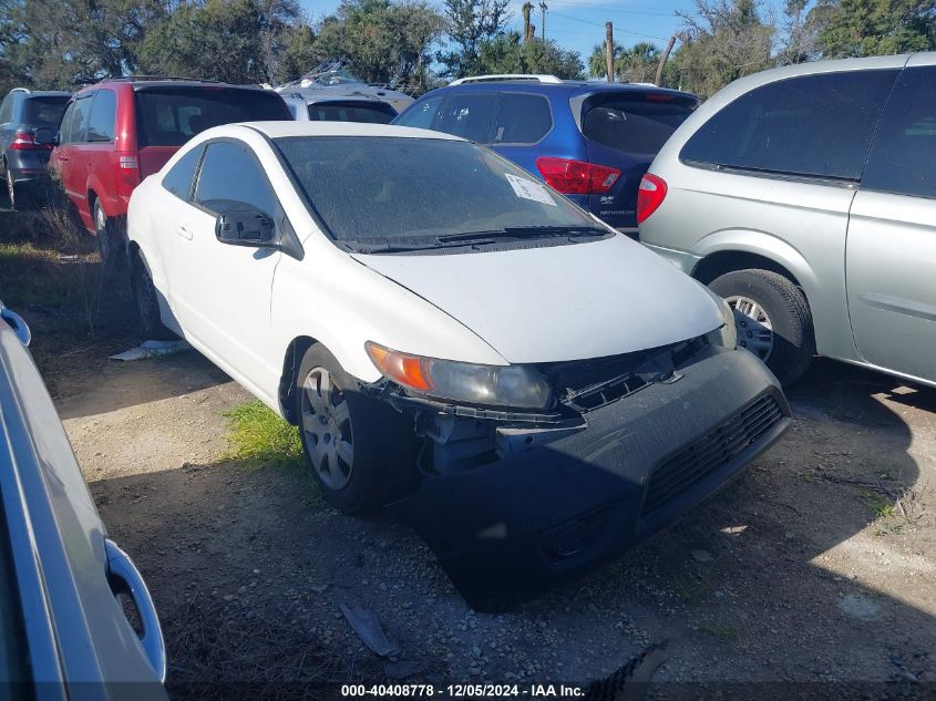
[[(529, 450), (426, 477), (389, 506), (474, 608), (529, 598), (618, 556), (718, 491), (791, 422), (776, 380), (747, 351), (709, 353), (677, 381), (584, 420), (543, 444), (521, 427)], [(516, 429), (497, 431), (517, 445)]]

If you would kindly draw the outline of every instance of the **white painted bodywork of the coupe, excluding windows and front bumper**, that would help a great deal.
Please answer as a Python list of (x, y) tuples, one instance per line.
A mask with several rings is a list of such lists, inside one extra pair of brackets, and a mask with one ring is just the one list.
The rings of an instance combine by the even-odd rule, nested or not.
[[(264, 134), (460, 140), (341, 122), (232, 124), (193, 138), (135, 189), (128, 238), (150, 267), (164, 323), (280, 414), (284, 361), (299, 337), (322, 343), (351, 375), (376, 382), (381, 375), (367, 341), (503, 365), (642, 350), (723, 322), (697, 282), (623, 236), (464, 255), (352, 256), (319, 229)], [(163, 187), (185, 153), (222, 137), (255, 152), (302, 244), (301, 260), (218, 243), (214, 217)]]

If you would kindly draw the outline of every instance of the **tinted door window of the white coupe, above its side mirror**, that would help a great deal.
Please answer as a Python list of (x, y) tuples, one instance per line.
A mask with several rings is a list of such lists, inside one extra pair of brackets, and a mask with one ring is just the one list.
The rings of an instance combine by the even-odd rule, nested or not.
[(213, 214), (243, 209), (245, 205), (275, 218), (279, 204), (259, 162), (246, 144), (218, 141), (208, 144), (195, 203)]

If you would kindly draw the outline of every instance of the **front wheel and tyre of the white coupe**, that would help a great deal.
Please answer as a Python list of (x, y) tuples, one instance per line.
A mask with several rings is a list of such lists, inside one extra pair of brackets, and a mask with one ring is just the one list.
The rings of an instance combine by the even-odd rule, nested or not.
[(414, 487), (412, 423), (389, 404), (364, 396), (322, 346), (306, 351), (294, 394), (306, 463), (335, 506), (361, 514)]

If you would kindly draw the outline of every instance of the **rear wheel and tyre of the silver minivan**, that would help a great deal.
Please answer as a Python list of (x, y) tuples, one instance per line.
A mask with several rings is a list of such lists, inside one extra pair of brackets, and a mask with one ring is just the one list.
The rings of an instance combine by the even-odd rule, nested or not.
[(806, 371), (815, 353), (813, 321), (803, 291), (772, 270), (733, 270), (709, 284), (734, 311), (738, 346), (760, 358), (782, 384)]

